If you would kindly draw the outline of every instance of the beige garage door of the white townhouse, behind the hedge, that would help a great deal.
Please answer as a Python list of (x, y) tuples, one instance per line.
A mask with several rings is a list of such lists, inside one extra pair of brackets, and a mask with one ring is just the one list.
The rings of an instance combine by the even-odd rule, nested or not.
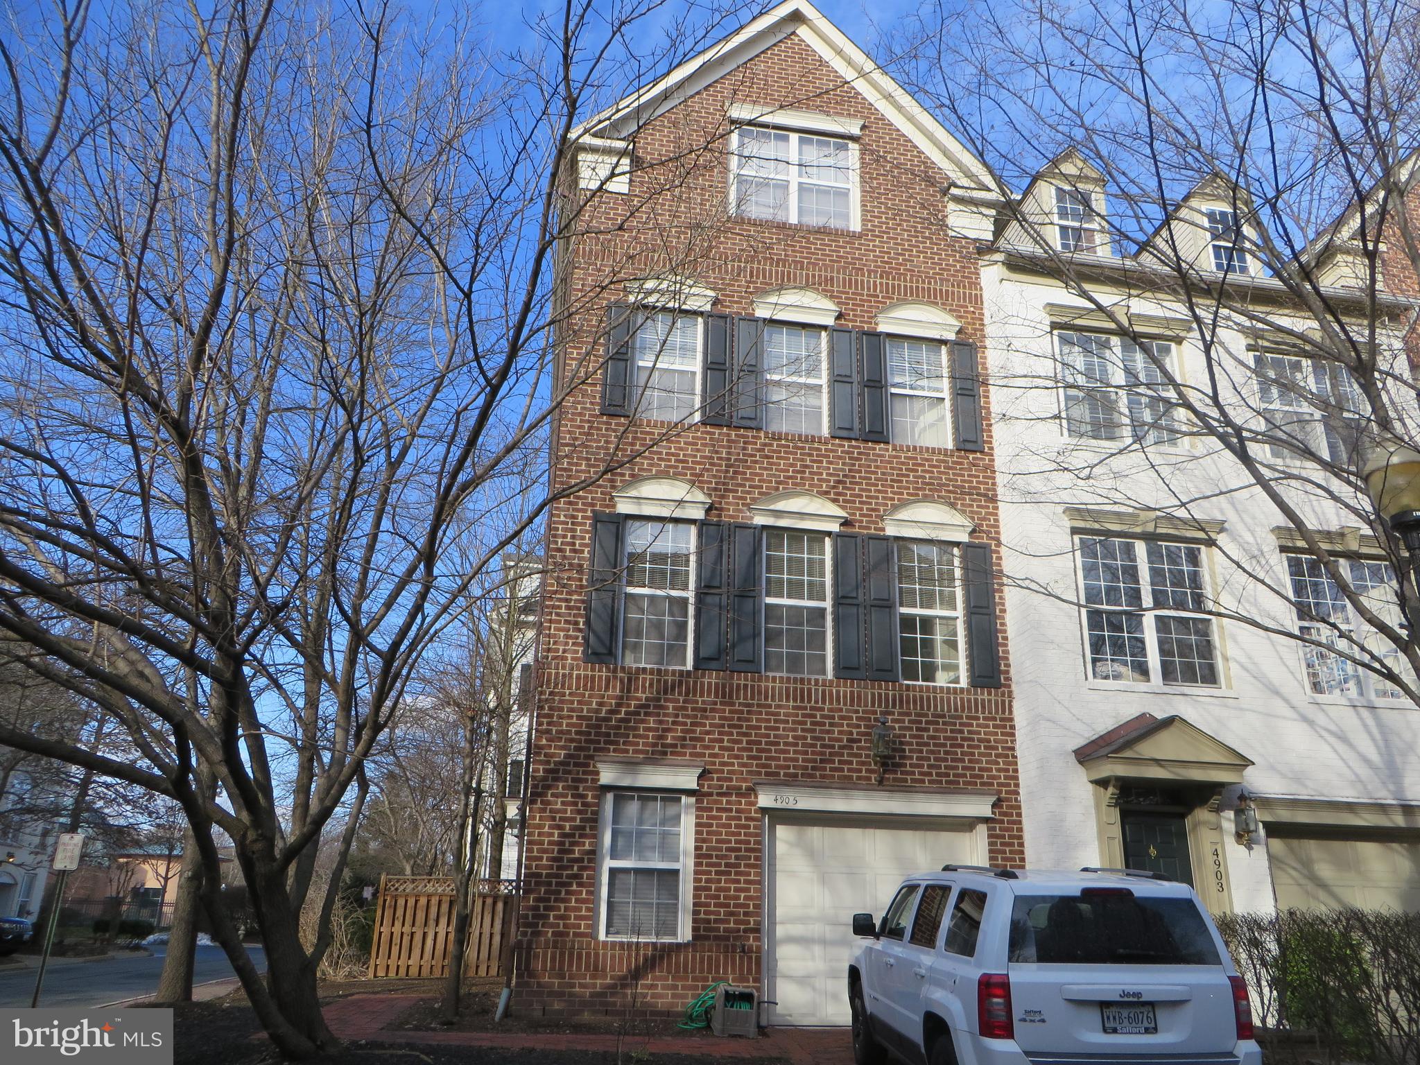
[(1274, 836), (1267, 839), (1282, 909), (1359, 906), (1420, 910), (1420, 839)]

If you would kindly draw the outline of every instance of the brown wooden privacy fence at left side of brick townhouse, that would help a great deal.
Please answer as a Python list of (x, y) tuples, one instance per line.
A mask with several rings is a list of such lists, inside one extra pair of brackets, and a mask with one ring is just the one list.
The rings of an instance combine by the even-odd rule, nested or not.
[[(464, 977), (503, 976), (503, 947), (513, 934), (514, 886), (514, 880), (479, 880), (469, 906)], [(452, 876), (379, 878), (371, 978), (447, 976), (452, 944)]]

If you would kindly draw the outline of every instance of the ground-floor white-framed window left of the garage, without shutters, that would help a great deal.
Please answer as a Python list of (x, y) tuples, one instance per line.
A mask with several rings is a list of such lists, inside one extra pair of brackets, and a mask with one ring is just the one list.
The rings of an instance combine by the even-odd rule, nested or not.
[(686, 795), (602, 794), (602, 939), (690, 939), (693, 805)]

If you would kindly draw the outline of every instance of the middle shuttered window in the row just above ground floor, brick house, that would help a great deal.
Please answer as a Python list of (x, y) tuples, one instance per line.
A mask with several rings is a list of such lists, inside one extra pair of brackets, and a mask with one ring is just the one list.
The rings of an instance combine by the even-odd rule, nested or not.
[(828, 676), (828, 537), (764, 531), (764, 672)]

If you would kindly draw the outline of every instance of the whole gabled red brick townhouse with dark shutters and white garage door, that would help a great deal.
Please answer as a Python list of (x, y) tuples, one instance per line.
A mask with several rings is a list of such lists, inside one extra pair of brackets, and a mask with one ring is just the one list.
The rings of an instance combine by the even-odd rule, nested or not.
[(846, 1022), (853, 912), (1025, 856), (994, 203), (801, 0), (577, 136), (517, 1008)]

